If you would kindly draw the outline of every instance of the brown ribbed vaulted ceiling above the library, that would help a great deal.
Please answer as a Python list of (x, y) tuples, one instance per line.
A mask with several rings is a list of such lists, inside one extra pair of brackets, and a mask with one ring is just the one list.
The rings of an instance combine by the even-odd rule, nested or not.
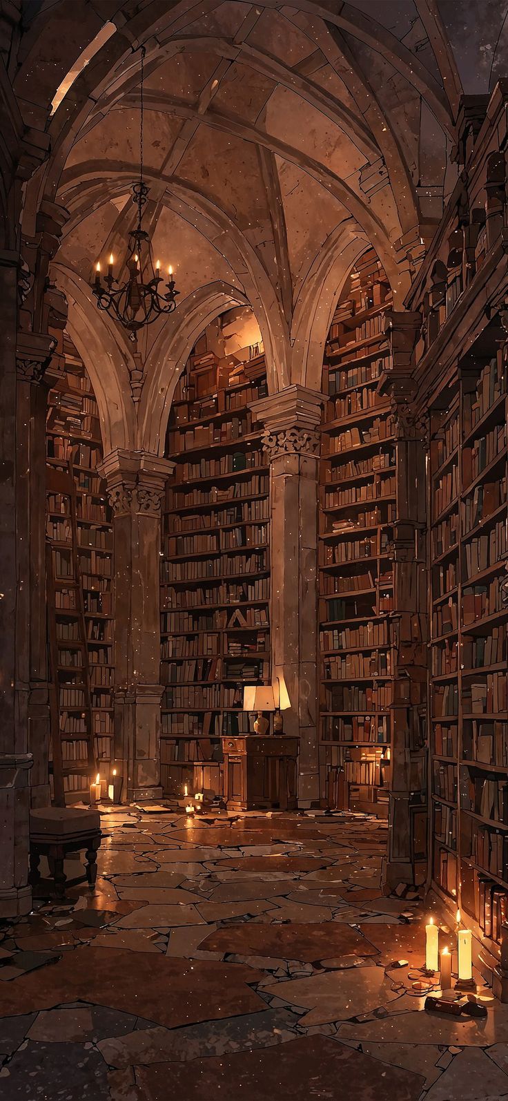
[(400, 303), (456, 179), (460, 96), (504, 75), (507, 8), (24, 0), (14, 87), (34, 116), (54, 102), (33, 206), (69, 210), (67, 285), (124, 250), (144, 44), (145, 219), (180, 301), (249, 301), (289, 361), (319, 344), (367, 243)]

